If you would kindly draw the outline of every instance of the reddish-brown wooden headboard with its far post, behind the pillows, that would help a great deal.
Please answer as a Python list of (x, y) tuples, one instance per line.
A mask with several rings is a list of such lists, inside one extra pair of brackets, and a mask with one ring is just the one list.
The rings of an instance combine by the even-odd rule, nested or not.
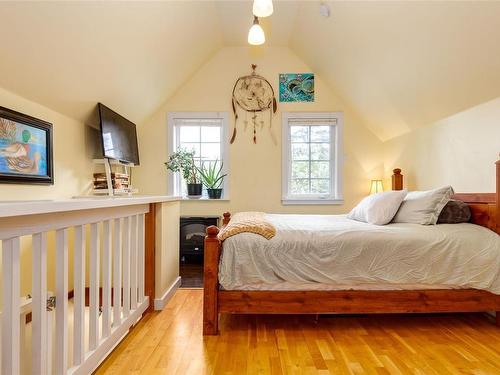
[[(500, 160), (496, 163), (496, 192), (494, 193), (457, 193), (453, 199), (469, 205), (471, 222), (500, 234)], [(393, 170), (392, 190), (403, 189), (401, 169)]]

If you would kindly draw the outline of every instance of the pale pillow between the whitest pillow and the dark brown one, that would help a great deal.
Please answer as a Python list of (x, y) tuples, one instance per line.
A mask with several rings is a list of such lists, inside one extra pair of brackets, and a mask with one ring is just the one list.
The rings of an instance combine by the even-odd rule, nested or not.
[(434, 225), (453, 194), (451, 186), (409, 192), (394, 217), (395, 223)]

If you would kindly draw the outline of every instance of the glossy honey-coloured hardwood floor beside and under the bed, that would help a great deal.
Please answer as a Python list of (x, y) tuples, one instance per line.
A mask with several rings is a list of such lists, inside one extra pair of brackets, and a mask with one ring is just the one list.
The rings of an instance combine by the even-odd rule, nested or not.
[(202, 290), (178, 290), (97, 374), (500, 374), (500, 328), (483, 314), (224, 315), (203, 337)]

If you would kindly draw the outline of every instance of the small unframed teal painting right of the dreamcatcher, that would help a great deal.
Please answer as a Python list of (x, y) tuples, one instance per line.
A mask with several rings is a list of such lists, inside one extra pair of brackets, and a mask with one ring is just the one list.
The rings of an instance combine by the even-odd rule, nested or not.
[(280, 74), (280, 102), (314, 102), (313, 73)]

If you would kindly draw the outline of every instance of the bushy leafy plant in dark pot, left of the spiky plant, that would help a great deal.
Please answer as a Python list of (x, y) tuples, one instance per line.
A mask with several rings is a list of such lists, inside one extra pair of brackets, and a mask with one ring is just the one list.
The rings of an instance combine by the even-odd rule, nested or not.
[(199, 169), (194, 162), (194, 151), (179, 149), (165, 163), (172, 172), (181, 172), (187, 184), (189, 198), (200, 198), (203, 185), (199, 179)]

